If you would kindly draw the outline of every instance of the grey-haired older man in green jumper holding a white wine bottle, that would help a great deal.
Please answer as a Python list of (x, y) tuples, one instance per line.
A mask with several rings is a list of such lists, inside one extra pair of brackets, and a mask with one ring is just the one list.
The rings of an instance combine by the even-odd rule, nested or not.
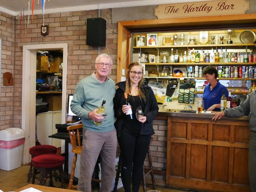
[[(82, 118), (83, 148), (80, 156), (78, 190), (91, 191), (91, 179), (97, 158), (101, 156), (102, 177), (100, 192), (110, 192), (115, 174), (116, 129), (114, 126), (113, 98), (115, 83), (108, 78), (112, 60), (108, 54), (100, 54), (95, 60), (96, 72), (82, 79), (76, 86), (71, 110)], [(105, 118), (97, 108), (106, 100)], [(103, 120), (104, 119), (104, 120)], [(94, 122), (101, 122), (100, 125)]]

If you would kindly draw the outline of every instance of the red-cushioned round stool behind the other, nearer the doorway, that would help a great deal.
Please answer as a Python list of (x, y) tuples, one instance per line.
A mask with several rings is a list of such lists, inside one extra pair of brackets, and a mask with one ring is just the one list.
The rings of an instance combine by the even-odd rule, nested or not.
[(33, 167), (32, 158), (38, 155), (55, 154), (56, 152), (57, 152), (57, 148), (52, 145), (37, 145), (29, 149), (29, 154), (31, 155), (31, 163), (30, 163), (30, 168), (28, 172), (28, 180), (27, 180), (28, 183), (30, 182), (30, 178), (32, 177), (32, 167)]

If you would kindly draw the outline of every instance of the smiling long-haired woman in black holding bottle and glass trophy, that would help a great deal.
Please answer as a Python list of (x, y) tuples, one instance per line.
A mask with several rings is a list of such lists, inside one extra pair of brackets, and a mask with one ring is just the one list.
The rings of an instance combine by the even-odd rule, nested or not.
[[(131, 192), (131, 172), (132, 191), (139, 191), (144, 160), (151, 135), (155, 133), (152, 121), (158, 112), (158, 105), (154, 92), (143, 83), (143, 79), (142, 66), (132, 62), (126, 71), (126, 81), (116, 84), (119, 88), (114, 98), (115, 127), (122, 156), (121, 178), (125, 192)], [(124, 95), (127, 95), (127, 100)], [(136, 109), (140, 107), (144, 115), (137, 120)]]

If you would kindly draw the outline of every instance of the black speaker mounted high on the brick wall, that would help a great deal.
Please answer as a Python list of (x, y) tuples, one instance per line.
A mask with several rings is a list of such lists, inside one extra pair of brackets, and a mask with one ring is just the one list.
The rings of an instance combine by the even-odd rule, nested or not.
[(106, 46), (106, 23), (102, 18), (87, 19), (86, 44)]

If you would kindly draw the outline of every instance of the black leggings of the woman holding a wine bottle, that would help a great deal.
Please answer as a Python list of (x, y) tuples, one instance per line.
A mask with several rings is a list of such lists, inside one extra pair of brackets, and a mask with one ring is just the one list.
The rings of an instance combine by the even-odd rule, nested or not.
[(131, 172), (132, 191), (139, 191), (150, 138), (151, 135), (134, 136), (124, 130), (121, 137), (117, 137), (122, 155), (121, 178), (125, 192), (131, 192)]

